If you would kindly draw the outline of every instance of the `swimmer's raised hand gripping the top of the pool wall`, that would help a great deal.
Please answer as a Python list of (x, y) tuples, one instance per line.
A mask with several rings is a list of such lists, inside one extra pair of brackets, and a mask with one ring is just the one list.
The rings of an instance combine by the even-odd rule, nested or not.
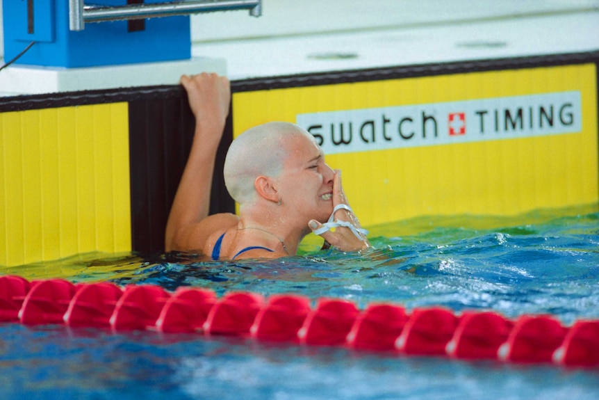
[(208, 137), (203, 139), (212, 136), (218, 145), (229, 114), (229, 104), (231, 104), (229, 80), (227, 77), (204, 72), (191, 77), (183, 75), (180, 82), (187, 92), (189, 106), (195, 116), (196, 133), (198, 131), (214, 133), (206, 135)]

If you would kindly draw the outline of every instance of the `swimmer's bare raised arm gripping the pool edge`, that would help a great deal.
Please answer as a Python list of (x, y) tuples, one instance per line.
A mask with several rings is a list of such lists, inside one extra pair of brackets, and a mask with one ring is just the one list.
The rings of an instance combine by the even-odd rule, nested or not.
[(229, 81), (226, 77), (204, 73), (193, 77), (183, 75), (181, 84), (187, 91), (190, 108), (195, 115), (195, 132), (167, 221), (167, 251), (199, 250), (215, 225), (223, 227), (237, 222), (232, 214), (205, 219), (210, 206), (216, 152), (229, 114)]

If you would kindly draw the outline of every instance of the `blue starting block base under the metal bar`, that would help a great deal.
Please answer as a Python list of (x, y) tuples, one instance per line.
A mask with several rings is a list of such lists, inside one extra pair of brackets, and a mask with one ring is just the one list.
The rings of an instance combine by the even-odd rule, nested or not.
[[(146, 0), (158, 3), (163, 0)], [(126, 0), (94, 0), (122, 6)], [(83, 31), (69, 29), (68, 0), (5, 0), (4, 60), (35, 44), (15, 64), (44, 67), (92, 67), (191, 57), (190, 17), (94, 22)]]

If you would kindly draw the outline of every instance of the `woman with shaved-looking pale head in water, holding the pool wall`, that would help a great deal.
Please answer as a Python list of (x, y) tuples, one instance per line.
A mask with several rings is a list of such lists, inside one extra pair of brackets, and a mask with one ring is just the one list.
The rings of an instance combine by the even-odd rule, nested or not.
[(327, 166), (311, 134), (287, 122), (259, 125), (233, 141), (224, 181), (240, 215), (208, 216), (229, 81), (204, 73), (183, 76), (181, 84), (195, 115), (195, 134), (167, 222), (167, 251), (199, 251), (212, 259), (286, 257), (311, 231), (325, 246), (343, 251), (370, 246), (345, 198), (340, 171)]

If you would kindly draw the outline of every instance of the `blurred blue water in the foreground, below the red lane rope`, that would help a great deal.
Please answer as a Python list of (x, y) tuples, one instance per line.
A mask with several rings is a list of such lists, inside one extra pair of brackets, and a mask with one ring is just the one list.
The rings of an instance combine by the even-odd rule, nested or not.
[(599, 390), (597, 371), (542, 365), (18, 324), (3, 337), (22, 345), (3, 355), (3, 399), (545, 400)]

